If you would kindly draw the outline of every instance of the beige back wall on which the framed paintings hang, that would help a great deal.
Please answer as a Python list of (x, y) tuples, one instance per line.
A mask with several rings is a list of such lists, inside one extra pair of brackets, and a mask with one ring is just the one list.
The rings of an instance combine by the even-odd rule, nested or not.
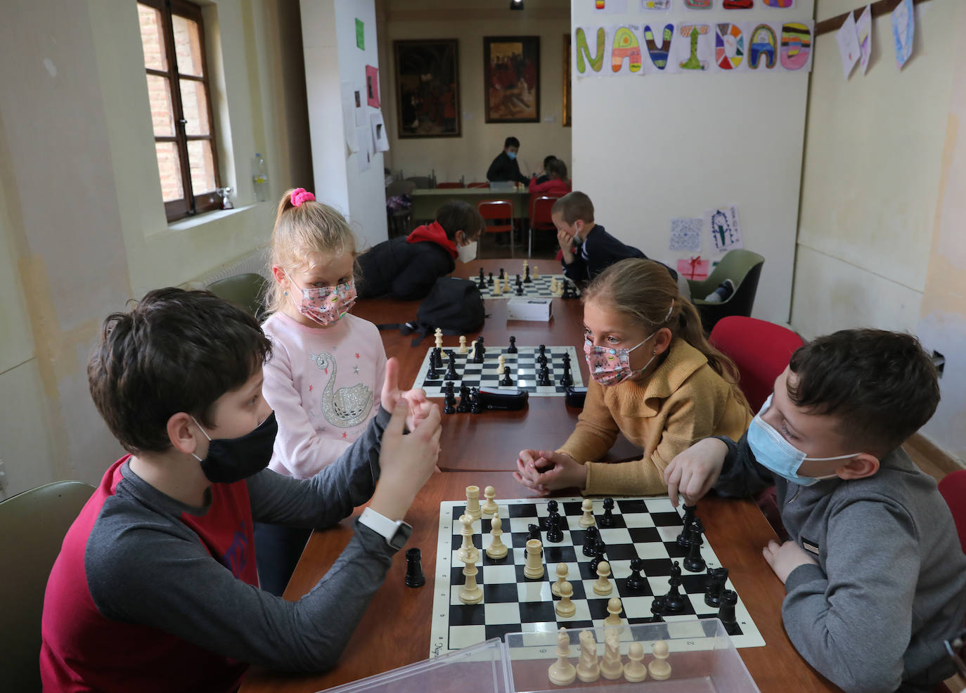
[[(377, 3), (380, 28), (380, 71), (383, 113), (389, 130), (386, 166), (409, 176), (467, 182), (486, 180), (503, 140), (521, 143), (520, 168), (525, 175), (543, 167), (554, 154), (571, 167), (571, 128), (563, 126), (563, 36), (570, 32), (570, 7), (564, 0), (526, 0), (526, 10), (511, 12), (507, 0), (383, 0)], [(487, 124), (483, 108), (483, 37), (540, 37), (541, 123)], [(459, 43), (462, 137), (396, 137), (395, 57), (392, 42), (400, 39), (457, 39)]]

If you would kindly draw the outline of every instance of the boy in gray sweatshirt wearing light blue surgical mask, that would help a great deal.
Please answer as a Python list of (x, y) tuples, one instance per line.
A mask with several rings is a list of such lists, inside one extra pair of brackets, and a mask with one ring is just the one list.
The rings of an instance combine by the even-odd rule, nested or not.
[(943, 641), (966, 623), (966, 556), (900, 447), (938, 402), (915, 338), (843, 330), (792, 355), (741, 440), (706, 438), (666, 470), (674, 502), (776, 486), (791, 539), (763, 553), (785, 585), (785, 630), (848, 693), (925, 693), (952, 675)]

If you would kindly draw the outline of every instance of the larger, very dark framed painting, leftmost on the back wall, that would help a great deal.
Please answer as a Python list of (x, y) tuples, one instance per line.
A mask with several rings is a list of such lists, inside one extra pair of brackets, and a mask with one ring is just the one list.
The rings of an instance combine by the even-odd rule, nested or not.
[(394, 41), (399, 138), (460, 137), (459, 43)]

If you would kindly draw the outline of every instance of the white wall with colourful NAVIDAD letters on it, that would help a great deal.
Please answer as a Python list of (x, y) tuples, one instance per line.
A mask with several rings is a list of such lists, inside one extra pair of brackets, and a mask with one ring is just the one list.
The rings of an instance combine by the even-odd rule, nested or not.
[[(577, 26), (686, 20), (808, 20), (811, 0), (793, 10), (739, 13), (594, 14), (572, 3)], [(679, 41), (678, 36), (675, 41)], [(645, 55), (644, 60), (647, 60)], [(607, 69), (607, 68), (605, 68)], [(744, 247), (765, 257), (753, 316), (784, 322), (802, 168), (809, 74), (660, 74), (574, 79), (574, 188), (594, 202), (597, 220), (622, 240), (672, 266), (688, 253), (668, 250), (670, 219), (735, 205)], [(572, 71), (576, 74), (576, 69)], [(710, 238), (702, 257), (720, 259)]]

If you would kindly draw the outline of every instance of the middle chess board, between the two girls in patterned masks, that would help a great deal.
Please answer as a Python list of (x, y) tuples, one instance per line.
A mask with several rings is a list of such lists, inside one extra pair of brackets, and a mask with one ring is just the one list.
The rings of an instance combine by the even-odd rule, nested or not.
[[(578, 361), (577, 349), (574, 347), (552, 347), (546, 346), (547, 368), (550, 370), (552, 385), (537, 385), (537, 354), (539, 347), (517, 346), (517, 353), (507, 353), (509, 347), (486, 346), (483, 354), (483, 363), (472, 363), (469, 361), (469, 345), (467, 353), (460, 353), (458, 347), (442, 347), (442, 368), (437, 369), (440, 377), (430, 380), (426, 374), (429, 373), (429, 358), (433, 351), (430, 347), (423, 356), (422, 366), (416, 374), (415, 382), (412, 387), (421, 387), (426, 391), (427, 397), (442, 397), (443, 389), (446, 385), (446, 367), (449, 365), (447, 350), (451, 350), (456, 357), (456, 373), (460, 377), (452, 380), (453, 392), (460, 394), (460, 384), (465, 383), (468, 387), (486, 387), (494, 390), (526, 390), (530, 397), (563, 397), (566, 394), (566, 387), (560, 385), (557, 380), (563, 375), (563, 354), (570, 354), (570, 376), (574, 380), (574, 387), (583, 386), (581, 375), (581, 362)], [(510, 368), (510, 378), (513, 380), (512, 386), (501, 387), (499, 378), (502, 373), (497, 373), (497, 363), (499, 355), (502, 354), (504, 363)], [(581, 357), (582, 358), (582, 357)]]

